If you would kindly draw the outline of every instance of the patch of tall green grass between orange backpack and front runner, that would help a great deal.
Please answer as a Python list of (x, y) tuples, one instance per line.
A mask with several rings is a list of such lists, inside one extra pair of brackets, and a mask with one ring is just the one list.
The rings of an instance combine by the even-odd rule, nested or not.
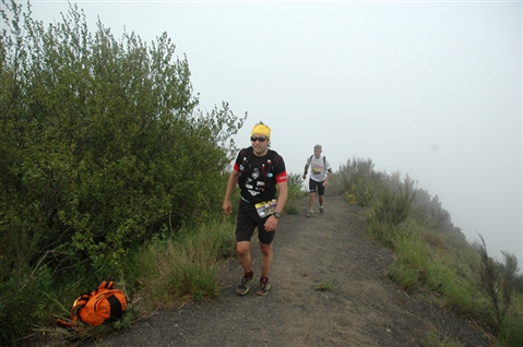
[(218, 261), (236, 250), (233, 222), (207, 222), (140, 250), (135, 259), (142, 310), (216, 296)]

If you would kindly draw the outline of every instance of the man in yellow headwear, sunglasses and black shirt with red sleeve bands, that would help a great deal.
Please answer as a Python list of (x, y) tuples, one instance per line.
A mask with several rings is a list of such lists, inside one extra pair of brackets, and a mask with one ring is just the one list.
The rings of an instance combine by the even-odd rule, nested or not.
[[(287, 201), (287, 172), (285, 163), (271, 145), (271, 129), (258, 123), (252, 128), (251, 146), (238, 153), (225, 191), (223, 211), (226, 215), (233, 212), (230, 196), (238, 184), (241, 199), (236, 220), (236, 251), (243, 267), (243, 276), (236, 292), (246, 295), (249, 284), (254, 278), (251, 267), (250, 241), (258, 227), (258, 238), (262, 255), (260, 285), (255, 294), (269, 294), (269, 272), (273, 262), (275, 230)], [(276, 201), (276, 187), (278, 199)]]

